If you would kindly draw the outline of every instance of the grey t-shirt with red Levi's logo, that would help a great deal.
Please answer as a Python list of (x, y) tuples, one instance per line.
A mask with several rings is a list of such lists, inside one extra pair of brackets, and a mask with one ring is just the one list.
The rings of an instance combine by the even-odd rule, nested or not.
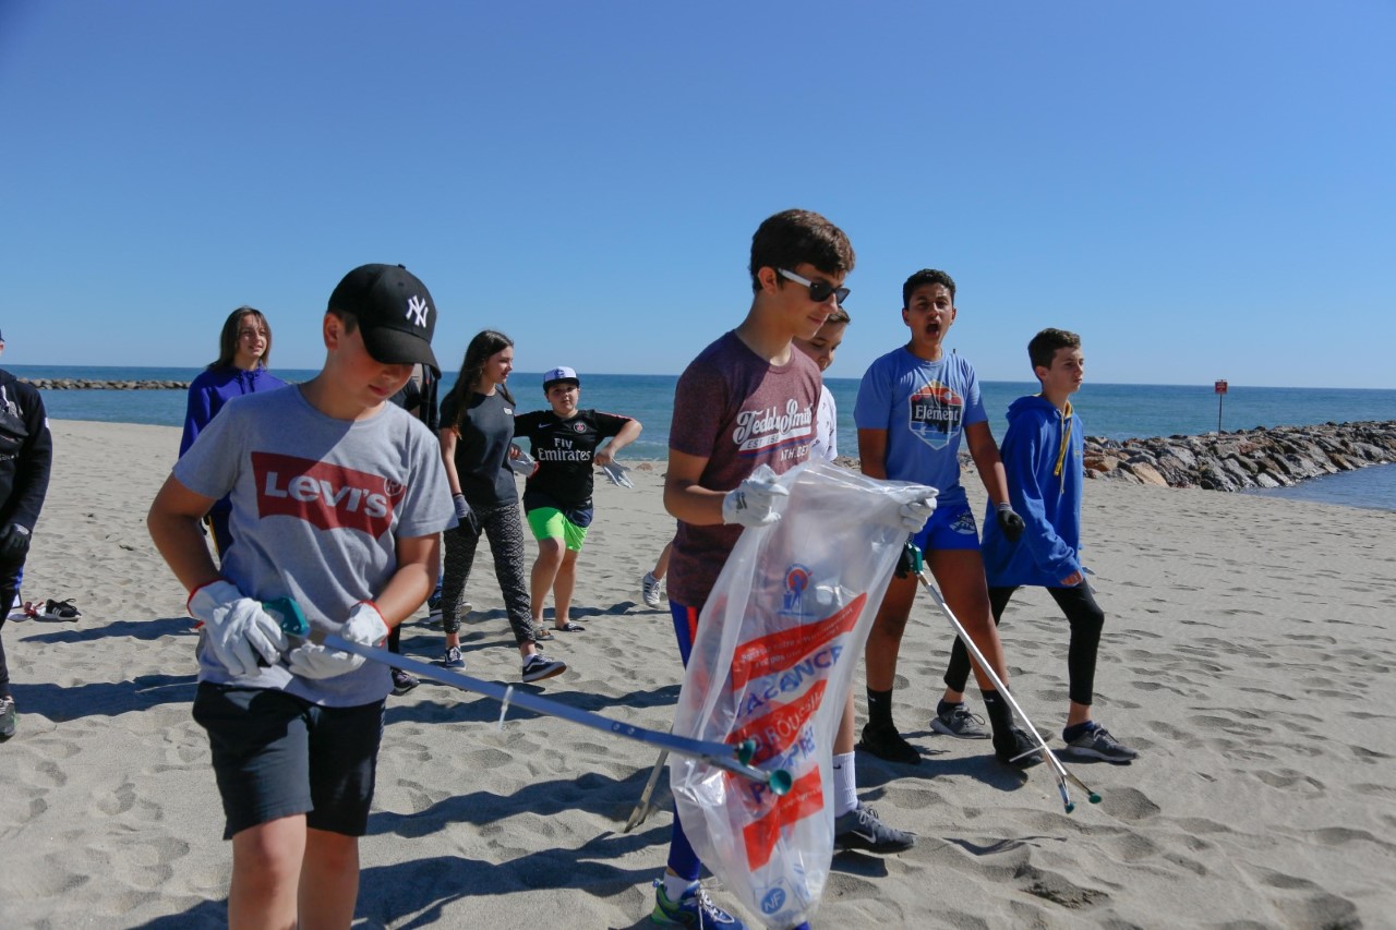
[[(398, 570), (396, 539), (455, 522), (438, 450), (431, 431), (392, 404), (350, 423), (290, 387), (230, 401), (174, 464), (174, 478), (197, 494), (229, 496), (225, 578), (255, 600), (293, 598), (313, 627), (338, 633), (350, 607), (374, 599)], [(324, 680), (285, 665), (235, 677), (202, 647), (201, 681), (279, 688), (327, 707), (381, 701), (392, 690), (377, 662)]]

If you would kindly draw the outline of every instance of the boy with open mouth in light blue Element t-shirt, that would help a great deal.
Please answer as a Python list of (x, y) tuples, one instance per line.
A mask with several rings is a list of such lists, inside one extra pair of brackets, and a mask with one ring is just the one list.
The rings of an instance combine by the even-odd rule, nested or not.
[[(912, 540), (926, 553), (927, 567), (945, 602), (1007, 684), (1004, 648), (988, 607), (979, 528), (959, 483), (962, 437), (1004, 536), (1018, 539), (1023, 519), (1008, 503), (1008, 479), (988, 430), (974, 369), (944, 349), (955, 316), (955, 281), (948, 274), (926, 268), (906, 279), (902, 323), (910, 330), (910, 341), (868, 366), (859, 384), (853, 419), (859, 427), (863, 473), (940, 489), (935, 514)], [(921, 761), (920, 751), (892, 722), (892, 683), (917, 580), (909, 571), (898, 574), (882, 596), (868, 634), (868, 722), (859, 746), (878, 758), (914, 765)], [(1018, 728), (1008, 702), (987, 687), (990, 681), (979, 669), (976, 676), (993, 728), (995, 757), (1018, 768), (1041, 762), (1041, 754)], [(963, 681), (959, 684), (963, 687)], [(966, 709), (963, 698), (946, 677), (946, 691), (931, 718), (931, 729), (959, 739), (987, 739), (990, 735)]]

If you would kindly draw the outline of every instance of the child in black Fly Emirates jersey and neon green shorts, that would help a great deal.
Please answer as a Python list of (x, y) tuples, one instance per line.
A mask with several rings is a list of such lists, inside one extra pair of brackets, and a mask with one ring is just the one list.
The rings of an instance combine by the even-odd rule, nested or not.
[[(543, 374), (543, 397), (550, 411), (532, 411), (514, 418), (514, 436), (532, 443), (537, 468), (524, 485), (524, 517), (537, 539), (537, 559), (529, 578), (533, 627), (543, 627), (543, 602), (553, 591), (553, 626), (563, 633), (581, 633), (572, 623), (572, 589), (577, 585), (577, 557), (592, 525), (592, 466), (610, 465), (616, 452), (639, 437), (639, 420), (616, 413), (584, 411), (577, 406), (582, 381), (567, 366)], [(606, 438), (610, 443), (597, 448)]]

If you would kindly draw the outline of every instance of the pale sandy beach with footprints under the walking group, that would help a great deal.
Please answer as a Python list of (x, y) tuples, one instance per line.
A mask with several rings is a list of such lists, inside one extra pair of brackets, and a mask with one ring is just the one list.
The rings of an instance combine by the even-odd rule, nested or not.
[[(74, 598), (84, 616), (4, 628), (20, 725), (0, 744), (0, 927), (223, 926), (230, 848), (190, 719), (195, 637), (145, 532), (179, 430), (53, 434), (22, 596)], [(549, 644), (571, 669), (544, 693), (664, 729), (681, 667), (639, 578), (673, 521), (662, 465), (632, 478), (597, 482), (572, 614), (586, 631)], [(859, 757), (860, 796), (919, 843), (836, 856), (814, 926), (1393, 926), (1396, 515), (1090, 482), (1083, 522), (1107, 613), (1096, 719), (1141, 758), (1072, 764), (1103, 802), (1067, 815), (1046, 767), (1018, 774), (987, 743), (933, 735), (951, 634), (923, 595), (896, 718), (924, 760)], [(466, 673), (517, 683), (489, 560), (466, 598)], [(1067, 628), (1044, 592), (1015, 598), (1004, 642), (1015, 694), (1060, 746)], [(424, 610), (402, 645), (440, 656)], [(861, 716), (861, 673), (856, 690)], [(667, 804), (621, 829), (655, 753), (518, 709), (501, 732), (498, 715), (434, 683), (388, 700), (355, 926), (651, 926)]]

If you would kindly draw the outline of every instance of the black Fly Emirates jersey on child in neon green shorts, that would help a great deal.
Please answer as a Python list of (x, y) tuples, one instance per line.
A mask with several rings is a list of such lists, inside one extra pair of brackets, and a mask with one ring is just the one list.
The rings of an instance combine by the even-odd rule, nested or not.
[[(533, 411), (514, 418), (514, 431), (533, 444), (537, 471), (524, 486), (524, 508), (560, 510), (592, 505), (592, 461), (602, 440), (620, 433), (628, 416), (578, 411), (570, 420), (553, 411)], [(550, 499), (550, 500), (549, 500)]]

